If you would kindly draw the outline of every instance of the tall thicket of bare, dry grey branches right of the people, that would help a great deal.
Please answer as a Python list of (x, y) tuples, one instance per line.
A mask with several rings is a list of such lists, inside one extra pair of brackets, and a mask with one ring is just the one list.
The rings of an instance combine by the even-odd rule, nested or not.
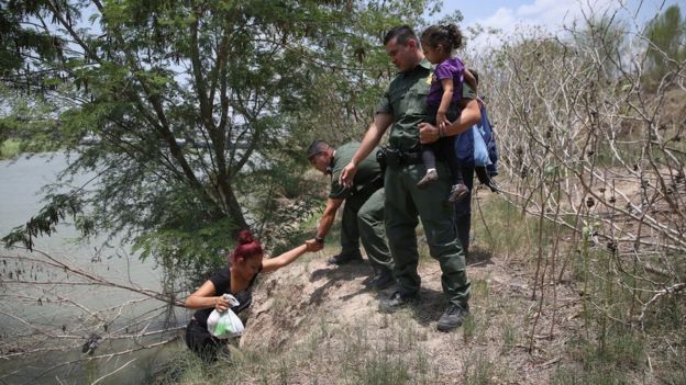
[[(678, 340), (686, 324), (686, 60), (615, 5), (478, 57), (491, 64), (482, 79), (504, 195), (540, 218), (533, 296), (578, 280), (586, 335), (604, 348), (610, 325), (675, 325), (661, 332)], [(656, 56), (668, 64), (657, 81)]]

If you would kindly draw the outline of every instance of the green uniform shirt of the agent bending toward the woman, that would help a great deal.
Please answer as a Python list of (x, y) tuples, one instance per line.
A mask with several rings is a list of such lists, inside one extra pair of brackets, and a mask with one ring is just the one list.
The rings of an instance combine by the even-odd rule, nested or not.
[(357, 165), (357, 172), (353, 179), (352, 188), (344, 188), (339, 183), (341, 171), (343, 171), (343, 168), (350, 163), (351, 159), (353, 159), (353, 155), (355, 155), (357, 148), (359, 148), (359, 143), (353, 141), (335, 149), (335, 152), (333, 154), (333, 165), (331, 166), (332, 178), (331, 192), (329, 193), (330, 199), (344, 200), (348, 197), (351, 193), (359, 191), (381, 174), (381, 168), (376, 161), (376, 151), (378, 148), (375, 148), (359, 165)]

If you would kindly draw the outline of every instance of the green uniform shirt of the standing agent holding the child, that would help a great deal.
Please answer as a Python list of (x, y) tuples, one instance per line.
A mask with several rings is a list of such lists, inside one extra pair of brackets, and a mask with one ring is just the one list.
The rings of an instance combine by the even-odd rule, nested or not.
[[(427, 95), (432, 76), (433, 66), (424, 58), (413, 69), (398, 73), (381, 97), (376, 113), (392, 115), (388, 139), (391, 147), (406, 151), (419, 149), (418, 125), (427, 121)], [(476, 99), (466, 83), (462, 97)]]

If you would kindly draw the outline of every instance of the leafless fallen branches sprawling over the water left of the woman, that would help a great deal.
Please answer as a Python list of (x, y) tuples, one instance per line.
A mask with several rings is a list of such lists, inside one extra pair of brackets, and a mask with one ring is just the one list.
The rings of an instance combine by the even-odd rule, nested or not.
[(164, 283), (143, 287), (129, 274), (103, 274), (97, 262), (84, 267), (36, 249), (2, 248), (0, 263), (3, 383), (97, 383), (141, 360), (136, 352), (174, 342), (185, 327), (174, 316), (182, 301)]

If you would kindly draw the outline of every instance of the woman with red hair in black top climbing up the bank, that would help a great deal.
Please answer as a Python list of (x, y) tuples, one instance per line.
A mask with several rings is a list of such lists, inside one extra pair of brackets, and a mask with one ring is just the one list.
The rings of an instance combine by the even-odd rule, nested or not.
[(253, 238), (250, 230), (239, 233), (239, 245), (229, 253), (229, 265), (206, 281), (200, 288), (186, 298), (186, 307), (196, 309), (186, 328), (186, 344), (207, 361), (217, 360), (217, 353), (225, 344), (212, 336), (207, 319), (213, 309), (225, 312), (230, 308), (224, 294), (233, 295), (240, 305), (232, 307), (239, 314), (252, 302), (252, 288), (257, 274), (278, 270), (308, 251), (317, 251), (307, 244), (269, 259), (264, 259), (262, 245)]

